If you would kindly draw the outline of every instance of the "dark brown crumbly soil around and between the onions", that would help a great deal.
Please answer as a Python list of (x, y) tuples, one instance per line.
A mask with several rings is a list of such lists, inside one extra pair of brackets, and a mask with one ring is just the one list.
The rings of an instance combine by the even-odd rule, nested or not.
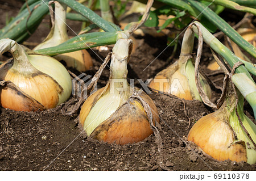
[[(20, 6), (22, 6), (20, 1), (0, 2), (0, 14), (2, 14), (0, 28), (5, 26), (6, 15), (15, 16)], [(76, 32), (80, 30), (80, 22), (67, 23)], [(40, 43), (48, 32), (49, 16), (46, 16), (38, 30), (24, 44), (32, 48), (31, 43)], [(69, 30), (69, 35), (75, 34)], [(166, 60), (173, 48), (167, 48), (156, 58), (166, 48), (166, 37), (155, 38), (146, 35), (136, 38), (140, 45), (131, 56), (128, 77), (140, 78), (145, 82), (168, 65)], [(181, 38), (177, 49), (180, 49), (180, 43)], [(93, 50), (102, 59), (109, 52), (100, 52), (96, 48)], [(88, 52), (93, 58), (94, 67), (86, 71), (86, 74), (94, 75), (102, 61), (92, 50)], [(179, 50), (175, 53), (172, 62), (178, 57)], [(144, 70), (152, 60), (155, 61)], [(209, 60), (212, 60), (212, 55), (207, 45), (204, 45), (201, 68), (206, 73), (209, 73), (209, 70), (205, 69)], [(80, 74), (73, 69), (69, 70), (77, 75)], [(106, 85), (108, 77), (109, 70), (105, 68), (98, 82), (98, 88)], [(220, 78), (216, 83), (222, 86), (223, 77), (223, 74), (217, 74), (209, 78), (212, 81)], [(141, 87), (138, 81), (135, 85)], [(221, 91), (212, 88), (212, 101), (216, 102)], [(174, 96), (155, 92), (149, 96), (154, 100), (161, 118), (158, 129), (163, 141), (163, 165), (168, 169), (256, 170), (256, 165), (245, 162), (218, 162), (187, 141), (189, 129), (195, 121), (213, 112), (211, 108), (197, 100), (180, 100)], [(78, 98), (73, 96), (70, 99)], [(18, 112), (0, 108), (0, 170), (162, 170), (159, 166), (159, 152), (154, 134), (141, 142), (124, 146), (99, 142), (82, 133), (77, 124), (77, 114), (63, 116), (62, 107), (63, 105), (60, 105), (42, 112)], [(254, 120), (253, 111), (247, 103), (245, 103), (245, 113)], [(188, 117), (191, 120), (190, 125)]]

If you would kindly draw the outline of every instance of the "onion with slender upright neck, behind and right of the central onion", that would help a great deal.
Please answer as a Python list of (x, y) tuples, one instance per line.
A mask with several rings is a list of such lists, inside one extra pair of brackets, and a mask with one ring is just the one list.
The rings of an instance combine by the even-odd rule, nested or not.
[[(191, 56), (194, 43), (193, 39), (193, 32), (186, 31), (179, 60), (156, 74), (148, 87), (186, 100), (197, 99), (202, 101), (196, 87), (195, 66), (193, 65), (193, 58)], [(208, 82), (201, 74), (200, 82), (208, 98), (211, 99), (212, 91)]]

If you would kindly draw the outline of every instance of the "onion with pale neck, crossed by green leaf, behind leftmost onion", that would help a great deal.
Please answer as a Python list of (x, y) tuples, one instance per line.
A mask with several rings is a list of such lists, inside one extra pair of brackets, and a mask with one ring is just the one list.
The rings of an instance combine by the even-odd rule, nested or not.
[[(33, 50), (55, 47), (61, 43), (64, 43), (69, 39), (67, 33), (66, 11), (65, 7), (59, 2), (55, 1), (55, 23), (53, 24), (49, 35), (43, 41), (43, 43), (37, 45)], [(65, 61), (67, 66), (75, 68), (79, 71), (89, 70), (92, 66), (92, 57), (84, 50), (78, 50), (76, 52), (63, 53), (55, 56), (57, 60)]]

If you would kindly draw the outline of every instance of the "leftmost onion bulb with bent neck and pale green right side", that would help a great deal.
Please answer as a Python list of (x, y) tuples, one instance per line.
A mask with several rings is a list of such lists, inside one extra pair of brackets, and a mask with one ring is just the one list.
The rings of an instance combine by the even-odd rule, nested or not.
[(54, 108), (71, 95), (71, 77), (65, 67), (52, 57), (27, 54), (14, 40), (0, 40), (0, 52), (10, 52), (13, 59), (0, 66), (1, 106), (15, 111)]

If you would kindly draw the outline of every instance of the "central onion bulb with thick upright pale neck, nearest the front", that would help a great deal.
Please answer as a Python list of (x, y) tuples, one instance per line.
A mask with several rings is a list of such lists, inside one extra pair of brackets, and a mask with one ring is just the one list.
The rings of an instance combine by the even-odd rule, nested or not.
[[(142, 103), (130, 98), (133, 91), (126, 77), (132, 42), (129, 39), (117, 41), (108, 84), (90, 95), (81, 107), (81, 127), (88, 136), (99, 141), (124, 145), (142, 141), (153, 132)], [(152, 99), (143, 91), (140, 96), (151, 108), (153, 123), (159, 122)]]

